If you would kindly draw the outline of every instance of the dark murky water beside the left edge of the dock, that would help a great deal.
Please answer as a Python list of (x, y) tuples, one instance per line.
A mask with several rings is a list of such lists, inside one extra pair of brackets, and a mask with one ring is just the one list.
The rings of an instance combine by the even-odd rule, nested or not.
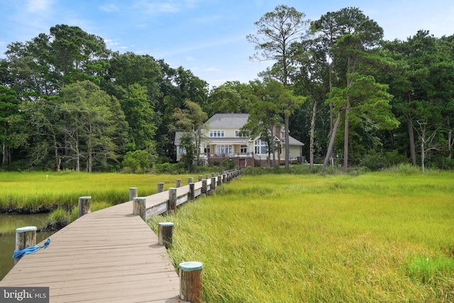
[[(16, 228), (47, 224), (49, 214), (0, 214), (0, 280), (13, 268), (16, 248)], [(36, 233), (36, 244), (47, 239), (53, 232)]]

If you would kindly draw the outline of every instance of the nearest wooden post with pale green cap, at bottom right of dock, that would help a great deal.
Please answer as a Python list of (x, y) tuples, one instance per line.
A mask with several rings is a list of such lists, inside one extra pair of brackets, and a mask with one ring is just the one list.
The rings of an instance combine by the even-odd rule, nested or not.
[(200, 262), (179, 263), (179, 299), (192, 303), (201, 303), (202, 269)]

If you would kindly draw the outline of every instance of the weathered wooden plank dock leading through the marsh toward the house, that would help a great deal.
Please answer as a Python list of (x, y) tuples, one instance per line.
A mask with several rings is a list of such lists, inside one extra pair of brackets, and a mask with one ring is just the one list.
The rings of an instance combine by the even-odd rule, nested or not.
[[(202, 194), (202, 182), (194, 187)], [(177, 188), (177, 204), (188, 197), (189, 185)], [(146, 197), (147, 218), (167, 211), (168, 201), (169, 191)], [(50, 287), (50, 302), (183, 302), (167, 250), (132, 213), (130, 201), (85, 214), (50, 236), (48, 248), (25, 255), (0, 287)]]

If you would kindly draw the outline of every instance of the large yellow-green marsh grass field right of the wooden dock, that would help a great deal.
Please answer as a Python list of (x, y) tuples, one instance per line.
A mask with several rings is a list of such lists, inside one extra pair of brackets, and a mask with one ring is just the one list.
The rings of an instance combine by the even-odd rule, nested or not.
[(174, 216), (204, 302), (453, 302), (454, 173), (243, 176)]

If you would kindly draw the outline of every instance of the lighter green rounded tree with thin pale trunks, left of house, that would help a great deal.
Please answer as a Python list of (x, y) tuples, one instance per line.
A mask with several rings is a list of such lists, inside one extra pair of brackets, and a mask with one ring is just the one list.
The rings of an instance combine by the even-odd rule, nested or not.
[(110, 97), (89, 81), (67, 85), (60, 93), (59, 111), (65, 116), (60, 131), (67, 136), (68, 150), (63, 157), (79, 172), (82, 161), (92, 172), (95, 162), (107, 165), (118, 160), (118, 145), (114, 136), (126, 127), (124, 116), (118, 116), (118, 100)]

